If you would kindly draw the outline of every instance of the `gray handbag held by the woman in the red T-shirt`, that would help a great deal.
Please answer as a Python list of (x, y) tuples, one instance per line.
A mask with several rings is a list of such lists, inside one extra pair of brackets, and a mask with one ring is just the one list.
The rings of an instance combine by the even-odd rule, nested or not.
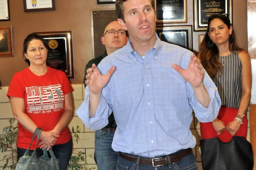
[(38, 141), (42, 132), (42, 129), (36, 128), (33, 134), (32, 140), (29, 144), (29, 148), (26, 150), (26, 153), (20, 157), (15, 170), (59, 170), (59, 160), (56, 159), (52, 148), (48, 151), (51, 155), (51, 159), (49, 159), (47, 150), (44, 149), (44, 155), (41, 156), (39, 159), (36, 156), (36, 149), (32, 153), (32, 156), (29, 156), (29, 149), (30, 146), (35, 138), (36, 133), (38, 132), (37, 141), (35, 147), (38, 145)]

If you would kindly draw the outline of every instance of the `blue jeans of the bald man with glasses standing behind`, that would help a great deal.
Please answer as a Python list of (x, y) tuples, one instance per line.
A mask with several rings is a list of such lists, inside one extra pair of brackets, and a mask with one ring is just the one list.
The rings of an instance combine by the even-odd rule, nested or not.
[(112, 149), (114, 133), (95, 130), (94, 160), (98, 170), (115, 170), (119, 152)]

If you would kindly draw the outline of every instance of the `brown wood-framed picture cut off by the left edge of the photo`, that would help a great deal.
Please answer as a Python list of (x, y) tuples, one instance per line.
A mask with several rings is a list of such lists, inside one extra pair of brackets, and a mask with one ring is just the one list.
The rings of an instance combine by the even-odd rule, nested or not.
[(14, 56), (12, 26), (0, 26), (0, 57)]

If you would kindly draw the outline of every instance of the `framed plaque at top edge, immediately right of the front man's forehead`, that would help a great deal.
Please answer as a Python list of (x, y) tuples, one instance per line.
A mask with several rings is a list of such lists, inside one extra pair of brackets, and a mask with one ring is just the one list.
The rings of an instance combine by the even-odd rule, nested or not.
[(187, 23), (187, 0), (156, 0), (156, 23)]

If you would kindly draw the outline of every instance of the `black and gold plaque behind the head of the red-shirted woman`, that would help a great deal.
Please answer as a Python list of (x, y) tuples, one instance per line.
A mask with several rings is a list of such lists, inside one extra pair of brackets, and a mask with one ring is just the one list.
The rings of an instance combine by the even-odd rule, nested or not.
[(74, 78), (72, 31), (35, 32), (47, 40), (47, 65)]

